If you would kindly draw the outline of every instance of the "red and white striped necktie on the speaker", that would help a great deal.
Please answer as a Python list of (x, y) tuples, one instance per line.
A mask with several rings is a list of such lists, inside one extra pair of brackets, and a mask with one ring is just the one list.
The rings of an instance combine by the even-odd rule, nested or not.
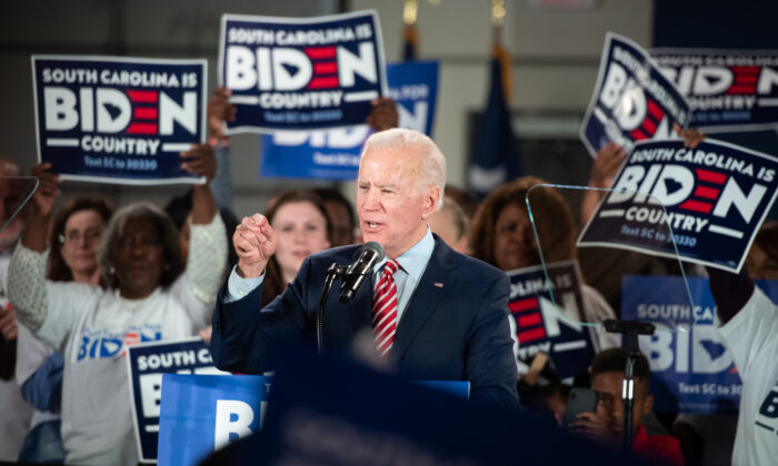
[(378, 354), (387, 357), (395, 343), (397, 330), (397, 285), (395, 272), (400, 265), (395, 260), (387, 261), (383, 274), (372, 293), (372, 334), (376, 337)]

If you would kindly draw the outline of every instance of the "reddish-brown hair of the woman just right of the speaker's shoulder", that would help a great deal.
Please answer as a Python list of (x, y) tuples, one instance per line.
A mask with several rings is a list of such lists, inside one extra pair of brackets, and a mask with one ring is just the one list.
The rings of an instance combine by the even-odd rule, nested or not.
[(555, 188), (538, 186), (545, 181), (522, 176), (492, 190), (478, 206), (470, 227), (472, 256), (497, 265), (495, 237), (497, 219), (502, 210), (517, 204), (527, 210), (526, 196), (530, 194), (532, 216), (536, 219), (538, 236), (546, 262), (558, 262), (576, 257), (576, 223), (562, 195)]

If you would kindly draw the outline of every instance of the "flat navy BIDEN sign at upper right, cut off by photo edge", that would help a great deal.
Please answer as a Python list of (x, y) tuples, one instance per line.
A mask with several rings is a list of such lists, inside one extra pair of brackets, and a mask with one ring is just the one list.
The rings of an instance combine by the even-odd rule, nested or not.
[(651, 50), (706, 133), (778, 126), (778, 51)]

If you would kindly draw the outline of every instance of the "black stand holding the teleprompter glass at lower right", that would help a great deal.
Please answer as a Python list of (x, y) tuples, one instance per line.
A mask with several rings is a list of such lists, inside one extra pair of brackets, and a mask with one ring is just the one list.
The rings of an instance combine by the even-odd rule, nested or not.
[(627, 364), (624, 369), (621, 385), (621, 404), (624, 406), (624, 424), (621, 427), (621, 449), (624, 453), (632, 452), (632, 407), (635, 406), (635, 361), (638, 358), (638, 335), (654, 335), (655, 326), (648, 322), (618, 321), (608, 318), (605, 321), (605, 330), (609, 333), (620, 333), (625, 336), (625, 350), (627, 351)]

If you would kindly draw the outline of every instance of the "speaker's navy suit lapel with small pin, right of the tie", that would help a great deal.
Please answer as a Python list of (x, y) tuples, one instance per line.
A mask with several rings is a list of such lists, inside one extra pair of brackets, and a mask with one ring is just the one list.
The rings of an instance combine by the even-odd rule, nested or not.
[(446, 243), (436, 236), (435, 250), (427, 269), (421, 275), (408, 307), (402, 313), (400, 325), (395, 334), (395, 344), (390, 353), (392, 359), (400, 361), (402, 358), (425, 323), (437, 311), (440, 301), (456, 285), (456, 278), (450, 271), (453, 266), (450, 261), (450, 251)]

